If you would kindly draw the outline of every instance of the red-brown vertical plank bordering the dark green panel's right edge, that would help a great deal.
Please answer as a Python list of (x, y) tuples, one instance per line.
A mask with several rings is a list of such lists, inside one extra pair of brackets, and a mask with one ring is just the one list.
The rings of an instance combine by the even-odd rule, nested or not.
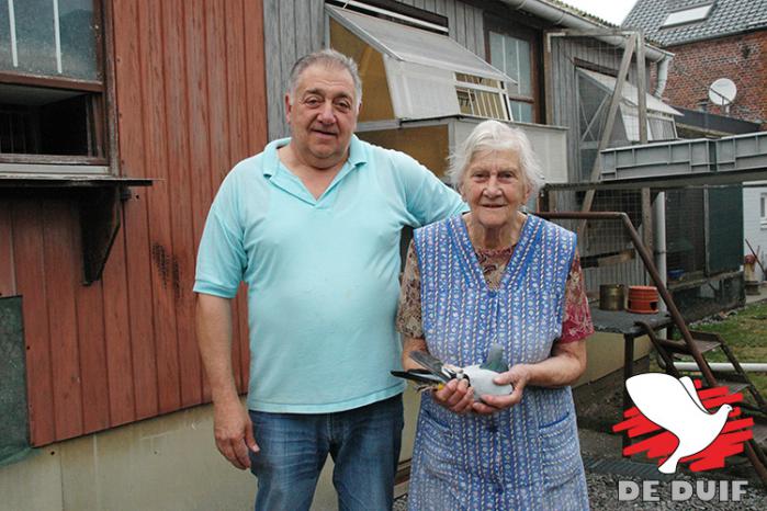
[(23, 295), (30, 440), (41, 445), (56, 440), (56, 431), (40, 203), (13, 203), (12, 218), (16, 286)]

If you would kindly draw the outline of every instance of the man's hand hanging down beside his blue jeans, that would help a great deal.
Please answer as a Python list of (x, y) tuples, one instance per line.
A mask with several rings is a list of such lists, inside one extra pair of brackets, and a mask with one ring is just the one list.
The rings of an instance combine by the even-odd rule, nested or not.
[(248, 450), (259, 452), (253, 438), (253, 424), (238, 400), (214, 405), (213, 432), (216, 447), (239, 469), (250, 468)]

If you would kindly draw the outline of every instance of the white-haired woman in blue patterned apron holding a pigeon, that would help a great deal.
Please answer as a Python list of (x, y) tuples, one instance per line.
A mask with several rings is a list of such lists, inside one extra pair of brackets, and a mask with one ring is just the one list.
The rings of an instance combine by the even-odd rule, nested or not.
[(471, 212), (416, 230), (397, 328), (405, 345), (445, 363), (483, 363), (490, 344), (510, 370), (504, 396), (474, 399), (464, 381), (421, 398), (411, 510), (583, 510), (588, 497), (568, 385), (593, 333), (575, 235), (520, 212), (540, 185), (525, 134), (480, 124), (450, 178)]

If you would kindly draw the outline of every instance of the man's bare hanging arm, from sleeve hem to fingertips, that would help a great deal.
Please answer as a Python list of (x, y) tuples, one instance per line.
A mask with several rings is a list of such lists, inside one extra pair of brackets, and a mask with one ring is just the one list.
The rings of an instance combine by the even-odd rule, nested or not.
[(198, 343), (213, 395), (216, 447), (237, 468), (250, 467), (258, 452), (247, 410), (239, 402), (232, 370), (232, 299), (198, 294)]

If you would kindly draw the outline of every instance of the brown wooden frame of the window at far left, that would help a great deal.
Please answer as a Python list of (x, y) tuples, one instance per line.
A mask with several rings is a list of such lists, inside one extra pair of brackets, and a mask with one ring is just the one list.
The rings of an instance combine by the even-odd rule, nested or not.
[[(0, 71), (0, 83), (84, 92), (88, 99), (89, 155), (0, 154), (0, 174), (110, 174), (116, 169), (114, 126), (114, 66), (111, 58), (110, 2), (92, 0), (95, 30), (95, 64), (100, 80), (50, 77), (23, 71)], [(92, 138), (92, 140), (90, 140)]]

